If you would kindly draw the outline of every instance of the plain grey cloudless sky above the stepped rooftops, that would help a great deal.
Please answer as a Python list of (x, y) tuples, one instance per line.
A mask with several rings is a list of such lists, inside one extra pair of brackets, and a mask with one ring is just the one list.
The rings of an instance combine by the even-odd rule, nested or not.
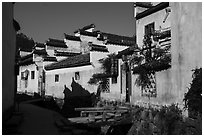
[(135, 21), (131, 2), (16, 2), (14, 18), (22, 33), (36, 42), (64, 39), (64, 33), (95, 24), (95, 30), (133, 36)]

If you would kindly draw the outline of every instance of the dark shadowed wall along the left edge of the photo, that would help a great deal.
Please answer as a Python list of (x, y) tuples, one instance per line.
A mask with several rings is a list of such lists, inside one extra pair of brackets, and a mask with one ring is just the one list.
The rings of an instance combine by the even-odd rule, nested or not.
[(13, 4), (2, 3), (2, 120), (7, 119), (14, 105), (15, 92), (15, 42), (16, 31), (13, 26)]

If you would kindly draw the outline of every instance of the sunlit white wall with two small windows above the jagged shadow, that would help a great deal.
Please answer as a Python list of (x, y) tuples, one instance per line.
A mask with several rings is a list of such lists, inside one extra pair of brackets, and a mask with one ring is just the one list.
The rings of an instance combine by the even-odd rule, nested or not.
[[(79, 80), (75, 80), (75, 72), (79, 72), (80, 75)], [(92, 65), (46, 71), (45, 94), (53, 95), (54, 97), (57, 98), (64, 98), (63, 94), (64, 85), (66, 85), (70, 90), (72, 90), (71, 88), (72, 77), (77, 83), (79, 83), (83, 88), (88, 90), (90, 93), (96, 92), (97, 87), (89, 85), (87, 83), (92, 74), (96, 72), (97, 70), (94, 70)], [(55, 82), (55, 74), (59, 75), (59, 82)]]

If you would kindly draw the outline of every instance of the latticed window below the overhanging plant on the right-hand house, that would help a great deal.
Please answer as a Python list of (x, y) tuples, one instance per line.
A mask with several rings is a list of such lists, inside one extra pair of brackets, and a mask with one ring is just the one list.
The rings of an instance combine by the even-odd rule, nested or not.
[(149, 74), (149, 84), (147, 84), (145, 87), (142, 87), (142, 96), (149, 96), (149, 97), (156, 97), (156, 77), (155, 74)]

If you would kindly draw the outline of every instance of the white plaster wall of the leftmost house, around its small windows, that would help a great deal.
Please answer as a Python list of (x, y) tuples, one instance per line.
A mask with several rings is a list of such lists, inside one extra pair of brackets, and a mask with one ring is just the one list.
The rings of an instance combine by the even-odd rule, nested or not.
[[(25, 80), (21, 79), (21, 72), (24, 72), (26, 69), (29, 70), (27, 88), (25, 87)], [(35, 71), (34, 79), (31, 79), (31, 71)], [(18, 87), (19, 87), (18, 91), (20, 92), (25, 92), (25, 91), (30, 93), (38, 92), (38, 71), (36, 69), (35, 64), (20, 66), (19, 77), (18, 77)]]

